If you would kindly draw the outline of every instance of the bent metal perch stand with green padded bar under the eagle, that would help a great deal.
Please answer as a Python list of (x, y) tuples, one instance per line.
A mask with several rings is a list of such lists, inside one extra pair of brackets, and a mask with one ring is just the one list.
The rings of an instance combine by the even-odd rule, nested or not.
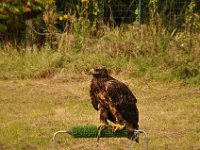
[(56, 136), (58, 134), (69, 134), (73, 136), (74, 138), (97, 138), (97, 147), (99, 138), (117, 138), (117, 137), (128, 137), (131, 139), (131, 142), (128, 146), (128, 149), (130, 150), (131, 145), (133, 144), (133, 141), (139, 137), (139, 134), (143, 133), (145, 136), (145, 142), (146, 142), (146, 150), (148, 150), (148, 136), (147, 133), (144, 130), (129, 130), (128, 127), (125, 127), (124, 129), (113, 132), (111, 127), (106, 127), (103, 130), (99, 131), (97, 126), (74, 126), (68, 131), (57, 131), (53, 135), (53, 150), (56, 148)]

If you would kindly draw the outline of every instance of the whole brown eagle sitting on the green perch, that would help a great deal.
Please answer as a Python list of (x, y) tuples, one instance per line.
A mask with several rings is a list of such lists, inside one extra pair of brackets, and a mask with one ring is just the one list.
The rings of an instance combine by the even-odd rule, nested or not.
[(90, 70), (93, 75), (90, 85), (90, 96), (93, 107), (100, 113), (100, 128), (108, 124), (114, 131), (128, 126), (138, 129), (139, 112), (137, 99), (131, 90), (122, 82), (111, 77), (108, 70), (96, 66)]

